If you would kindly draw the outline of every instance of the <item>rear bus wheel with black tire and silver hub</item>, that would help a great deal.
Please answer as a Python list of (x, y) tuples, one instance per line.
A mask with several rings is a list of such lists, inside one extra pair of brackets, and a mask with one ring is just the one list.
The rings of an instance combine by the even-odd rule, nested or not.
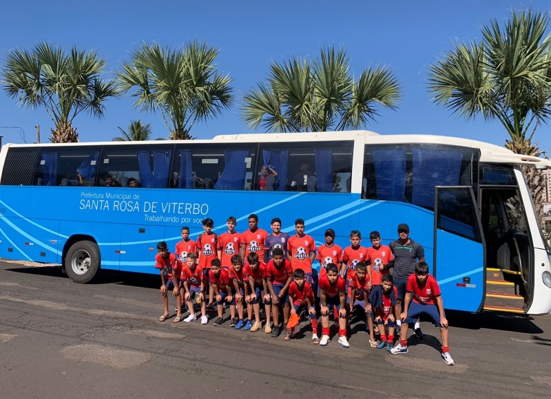
[(63, 265), (72, 281), (79, 284), (89, 283), (99, 270), (100, 254), (97, 244), (92, 241), (74, 243), (67, 251)]

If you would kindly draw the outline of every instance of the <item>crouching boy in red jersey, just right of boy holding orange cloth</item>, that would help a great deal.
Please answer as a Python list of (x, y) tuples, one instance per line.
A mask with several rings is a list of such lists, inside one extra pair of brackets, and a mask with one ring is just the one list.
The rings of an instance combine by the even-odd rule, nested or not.
[(322, 339), (321, 346), (326, 346), (329, 338), (329, 307), (337, 307), (339, 312), (339, 343), (342, 347), (350, 347), (346, 339), (346, 283), (339, 276), (339, 268), (335, 263), (327, 265), (326, 274), (320, 277), (320, 302), (322, 305)]

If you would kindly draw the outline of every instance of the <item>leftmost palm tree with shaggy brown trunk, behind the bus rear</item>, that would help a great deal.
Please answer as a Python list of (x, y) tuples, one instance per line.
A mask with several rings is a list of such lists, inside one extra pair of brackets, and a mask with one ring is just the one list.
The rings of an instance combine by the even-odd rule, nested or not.
[(54, 122), (51, 142), (78, 142), (74, 118), (105, 113), (105, 100), (116, 96), (113, 79), (101, 79), (107, 62), (94, 51), (39, 43), (32, 50), (12, 50), (3, 63), (4, 91), (21, 106), (45, 107)]

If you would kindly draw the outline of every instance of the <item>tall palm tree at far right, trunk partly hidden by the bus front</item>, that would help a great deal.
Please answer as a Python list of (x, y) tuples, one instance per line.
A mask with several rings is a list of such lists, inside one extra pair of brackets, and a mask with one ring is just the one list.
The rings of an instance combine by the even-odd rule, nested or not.
[[(548, 14), (512, 10), (500, 27), (497, 19), (481, 28), (478, 42), (458, 43), (430, 65), (428, 89), (437, 105), (466, 120), (481, 116), (498, 120), (514, 153), (544, 154), (532, 138), (551, 112), (551, 35)], [(543, 209), (543, 177), (523, 166), (539, 215)]]

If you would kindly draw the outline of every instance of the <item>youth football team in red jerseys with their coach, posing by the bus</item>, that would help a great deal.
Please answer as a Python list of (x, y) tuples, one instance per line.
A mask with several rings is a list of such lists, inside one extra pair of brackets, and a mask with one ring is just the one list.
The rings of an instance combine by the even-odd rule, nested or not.
[[(249, 229), (244, 233), (237, 233), (236, 225), (236, 218), (229, 217), (227, 233), (217, 235), (212, 231), (213, 220), (207, 218), (202, 221), (205, 231), (196, 241), (189, 238), (189, 227), (182, 228), (182, 240), (174, 253), (169, 252), (165, 241), (158, 243), (155, 267), (160, 269), (165, 308), (159, 321), (169, 318), (171, 290), (177, 297), (174, 323), (183, 319), (184, 305), (189, 315), (183, 321), (196, 321), (194, 303), (200, 303), (200, 321), (207, 324), (208, 288), (208, 307), (216, 306), (218, 312), (216, 326), (224, 322), (224, 308), (229, 305), (231, 327), (258, 331), (262, 328), (263, 303), (264, 332), (278, 337), (283, 328), (284, 338), (289, 340), (295, 334), (298, 315), (305, 310), (311, 320), (313, 343), (326, 346), (332, 311), (338, 342), (349, 347), (349, 318), (355, 308), (361, 308), (371, 347), (406, 354), (408, 325), (414, 325), (415, 335), (424, 338), (419, 316), (428, 314), (440, 329), (441, 358), (447, 365), (454, 364), (438, 283), (428, 274), (424, 249), (409, 238), (406, 224), (399, 224), (399, 237), (389, 246), (381, 244), (377, 231), (370, 234), (372, 246), (361, 246), (361, 233), (353, 230), (351, 246), (344, 250), (334, 243), (335, 231), (331, 228), (325, 231), (325, 243), (316, 248), (314, 239), (304, 233), (302, 219), (296, 219), (292, 236), (281, 232), (278, 217), (271, 220), (270, 235), (258, 227), (258, 216), (254, 214), (249, 215)], [(320, 262), (319, 276), (312, 268), (316, 260)], [(322, 319), (321, 338), (318, 313)], [(395, 332), (399, 334), (397, 345)]]

